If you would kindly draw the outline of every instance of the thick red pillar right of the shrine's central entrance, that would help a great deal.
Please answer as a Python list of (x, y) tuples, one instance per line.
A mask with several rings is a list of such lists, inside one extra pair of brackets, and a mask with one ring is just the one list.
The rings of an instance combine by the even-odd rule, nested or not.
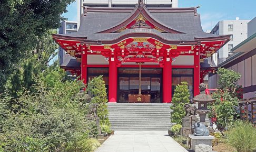
[(172, 102), (172, 59), (165, 58), (163, 67), (163, 103)]

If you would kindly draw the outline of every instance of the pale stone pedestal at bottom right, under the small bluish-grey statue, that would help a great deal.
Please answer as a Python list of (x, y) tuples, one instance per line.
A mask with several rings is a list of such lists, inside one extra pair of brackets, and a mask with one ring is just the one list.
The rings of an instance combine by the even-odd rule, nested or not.
[(191, 149), (193, 151), (196, 151), (195, 147), (200, 144), (209, 145), (212, 146), (212, 140), (214, 139), (213, 136), (194, 136), (189, 135), (189, 138), (191, 138)]

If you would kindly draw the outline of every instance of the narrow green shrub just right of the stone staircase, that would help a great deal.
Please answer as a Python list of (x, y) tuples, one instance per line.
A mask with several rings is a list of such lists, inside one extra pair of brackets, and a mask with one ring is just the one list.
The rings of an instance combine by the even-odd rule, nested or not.
[(184, 105), (189, 103), (189, 87), (188, 82), (181, 82), (178, 84), (174, 90), (172, 97), (171, 110), (171, 121), (176, 124), (181, 124), (181, 119), (185, 116)]

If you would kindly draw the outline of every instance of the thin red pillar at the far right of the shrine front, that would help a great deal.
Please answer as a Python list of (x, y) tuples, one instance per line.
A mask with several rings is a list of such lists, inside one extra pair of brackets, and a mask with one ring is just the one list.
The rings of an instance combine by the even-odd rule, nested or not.
[(196, 47), (194, 55), (194, 96), (200, 94), (200, 46)]

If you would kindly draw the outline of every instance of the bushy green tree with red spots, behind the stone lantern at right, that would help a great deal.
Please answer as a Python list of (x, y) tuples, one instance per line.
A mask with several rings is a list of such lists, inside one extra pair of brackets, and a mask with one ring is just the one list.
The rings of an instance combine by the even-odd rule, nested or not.
[(218, 69), (219, 91), (212, 94), (215, 102), (209, 104), (211, 110), (208, 117), (216, 118), (216, 125), (220, 131), (227, 130), (227, 126), (232, 124), (239, 117), (237, 92), (237, 82), (241, 74), (233, 70), (224, 68)]

